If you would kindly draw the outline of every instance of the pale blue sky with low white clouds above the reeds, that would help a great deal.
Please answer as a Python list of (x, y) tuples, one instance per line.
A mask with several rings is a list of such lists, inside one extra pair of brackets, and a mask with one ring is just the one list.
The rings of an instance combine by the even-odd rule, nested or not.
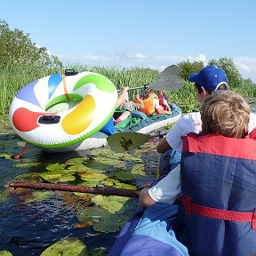
[(63, 64), (163, 69), (232, 58), (256, 83), (255, 0), (8, 0), (0, 19)]

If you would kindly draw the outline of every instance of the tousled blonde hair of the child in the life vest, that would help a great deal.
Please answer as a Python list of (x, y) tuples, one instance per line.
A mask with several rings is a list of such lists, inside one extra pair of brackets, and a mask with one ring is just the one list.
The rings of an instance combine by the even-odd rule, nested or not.
[(250, 108), (236, 92), (217, 91), (205, 97), (201, 119), (202, 129), (206, 133), (244, 138), (248, 134)]

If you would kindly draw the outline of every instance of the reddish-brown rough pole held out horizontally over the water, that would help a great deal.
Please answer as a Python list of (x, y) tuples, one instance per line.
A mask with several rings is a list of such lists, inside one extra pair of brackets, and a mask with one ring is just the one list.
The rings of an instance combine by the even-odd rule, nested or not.
[(25, 181), (13, 181), (9, 184), (12, 188), (35, 188), (46, 190), (60, 190), (68, 192), (80, 192), (88, 194), (97, 194), (103, 196), (126, 196), (138, 198), (140, 191), (125, 189), (125, 188), (110, 188), (110, 187), (84, 187), (76, 185), (52, 184), (52, 183), (36, 183)]

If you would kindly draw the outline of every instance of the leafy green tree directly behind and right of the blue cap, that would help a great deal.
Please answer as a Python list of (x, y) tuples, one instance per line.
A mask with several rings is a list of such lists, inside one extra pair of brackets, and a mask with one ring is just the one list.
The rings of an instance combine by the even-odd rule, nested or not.
[(221, 57), (218, 60), (210, 60), (209, 65), (215, 65), (225, 70), (228, 76), (228, 87), (230, 89), (239, 87), (243, 83), (243, 78), (232, 58)]

